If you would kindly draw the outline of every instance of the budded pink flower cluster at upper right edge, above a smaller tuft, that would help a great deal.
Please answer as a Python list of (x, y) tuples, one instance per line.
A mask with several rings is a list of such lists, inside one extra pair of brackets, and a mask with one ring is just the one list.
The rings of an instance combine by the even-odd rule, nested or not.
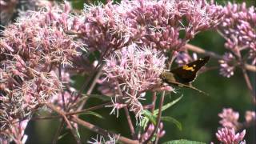
[(228, 2), (223, 7), (224, 18), (218, 29), (226, 38), (226, 47), (234, 49), (249, 47), (256, 50), (256, 12), (255, 7), (246, 8), (246, 2), (232, 4)]

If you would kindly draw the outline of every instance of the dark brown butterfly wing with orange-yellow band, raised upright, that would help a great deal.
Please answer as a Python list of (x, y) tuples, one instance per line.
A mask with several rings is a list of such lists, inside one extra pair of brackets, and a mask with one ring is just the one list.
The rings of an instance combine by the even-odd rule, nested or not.
[(198, 70), (200, 70), (202, 66), (205, 66), (209, 59), (210, 56), (199, 58), (194, 62), (190, 62), (184, 66), (178, 67), (174, 70), (170, 70), (170, 72), (174, 74), (174, 78), (177, 80), (177, 82), (193, 82), (194, 78), (196, 78), (197, 76)]

